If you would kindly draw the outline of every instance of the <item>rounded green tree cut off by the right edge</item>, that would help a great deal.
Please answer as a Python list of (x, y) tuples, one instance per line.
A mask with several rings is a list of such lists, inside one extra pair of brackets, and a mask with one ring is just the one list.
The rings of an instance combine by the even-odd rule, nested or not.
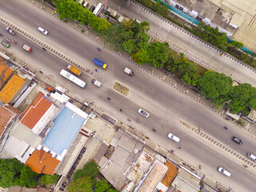
[(248, 83), (234, 86), (231, 100), (230, 109), (232, 113), (236, 114), (243, 111), (244, 114), (248, 114), (250, 109), (256, 110), (256, 88)]

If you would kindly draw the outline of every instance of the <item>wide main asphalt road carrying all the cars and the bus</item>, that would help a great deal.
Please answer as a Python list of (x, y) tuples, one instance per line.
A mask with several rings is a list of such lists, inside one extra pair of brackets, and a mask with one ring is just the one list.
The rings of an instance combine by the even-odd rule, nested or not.
[[(190, 130), (179, 123), (179, 120), (182, 119), (200, 128), (206, 134), (213, 136), (242, 155), (246, 155), (247, 152), (255, 154), (256, 145), (254, 139), (250, 138), (238, 126), (226, 122), (218, 114), (214, 114), (213, 111), (199, 105), (198, 102), (186, 95), (180, 94), (177, 90), (161, 82), (158, 78), (154, 78), (145, 70), (126, 62), (123, 58), (118, 57), (117, 54), (108, 50), (99, 52), (96, 48), (100, 46), (96, 42), (66, 26), (65, 23), (51, 17), (49, 14), (32, 7), (27, 2), (24, 1), (17, 4), (14, 0), (8, 2), (0, 0), (0, 5), (1, 17), (46, 42), (49, 46), (59, 50), (62, 54), (67, 55), (82, 66), (90, 70), (96, 69), (97, 66), (94, 66), (92, 60), (97, 56), (109, 65), (109, 70), (104, 71), (97, 68), (99, 72), (93, 75), (83, 73), (81, 78), (88, 83), (88, 86), (85, 90), (82, 90), (58, 75), (59, 71), (66, 68), (68, 63), (56, 55), (42, 50), (40, 46), (30, 42), (21, 34), (15, 34), (14, 36), (7, 34), (1, 24), (0, 33), (4, 34), (3, 38), (7, 37), (12, 41), (18, 42), (17, 46), (12, 44), (9, 49), (15, 57), (22, 58), (31, 66), (42, 70), (51, 81), (59, 82), (66, 86), (75, 98), (81, 101), (89, 100), (95, 102), (102, 110), (141, 130), (161, 146), (165, 146), (167, 150), (174, 149), (175, 154), (186, 159), (187, 162), (192, 163), (194, 166), (202, 164), (205, 173), (210, 174), (211, 177), (216, 178), (218, 181), (221, 178), (221, 182), (225, 186), (230, 185), (237, 191), (251, 191), (250, 189), (255, 188), (256, 184), (252, 182), (256, 179), (255, 170), (245, 169), (242, 167), (242, 162), (219, 150), (203, 138), (192, 134)], [(37, 31), (38, 26), (49, 30), (49, 35), (40, 34)], [(32, 47), (32, 53), (27, 53), (20, 48), (23, 42)], [(123, 73), (123, 69), (126, 66), (134, 70), (135, 76), (133, 78)], [(92, 85), (90, 83), (92, 78), (100, 80), (102, 87), (97, 88)], [(124, 97), (111, 89), (111, 86), (117, 80), (130, 88), (128, 97)], [(110, 97), (111, 101), (108, 101), (107, 97)], [(119, 108), (122, 108), (122, 112), (118, 111)], [(148, 111), (150, 117), (143, 118), (138, 114), (139, 108)], [(127, 118), (132, 121), (128, 122)], [(135, 118), (139, 118), (141, 122), (135, 122)], [(230, 130), (224, 130), (223, 126), (229, 126)], [(157, 133), (152, 131), (153, 128), (157, 130)], [(182, 150), (176, 150), (177, 144), (167, 138), (169, 132), (181, 138), (181, 142), (178, 145), (182, 146)], [(232, 136), (242, 138), (244, 144), (238, 146), (231, 141)], [(223, 166), (230, 170), (231, 178), (218, 174), (216, 171), (218, 166)]]

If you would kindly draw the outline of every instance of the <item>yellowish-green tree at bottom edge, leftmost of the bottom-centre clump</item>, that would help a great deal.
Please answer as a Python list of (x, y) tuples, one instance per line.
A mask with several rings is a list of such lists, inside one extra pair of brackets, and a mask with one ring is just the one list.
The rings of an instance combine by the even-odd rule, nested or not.
[(94, 180), (90, 177), (77, 178), (74, 182), (70, 182), (67, 190), (70, 192), (93, 192)]

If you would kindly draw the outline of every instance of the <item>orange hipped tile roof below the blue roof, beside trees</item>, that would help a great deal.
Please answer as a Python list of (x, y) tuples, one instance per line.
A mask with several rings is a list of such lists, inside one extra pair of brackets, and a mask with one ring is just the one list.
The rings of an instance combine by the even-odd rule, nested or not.
[(51, 155), (44, 150), (35, 150), (26, 160), (25, 166), (30, 166), (31, 170), (38, 174), (53, 175), (60, 161)]

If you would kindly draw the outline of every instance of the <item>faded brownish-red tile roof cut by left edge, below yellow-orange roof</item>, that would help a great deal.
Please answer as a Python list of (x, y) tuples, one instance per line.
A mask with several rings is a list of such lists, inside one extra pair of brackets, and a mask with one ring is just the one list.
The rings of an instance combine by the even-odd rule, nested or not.
[[(13, 107), (14, 108), (14, 107)], [(3, 131), (6, 129), (6, 126), (10, 121), (16, 116), (12, 110), (9, 110), (6, 106), (0, 106), (0, 136)]]

